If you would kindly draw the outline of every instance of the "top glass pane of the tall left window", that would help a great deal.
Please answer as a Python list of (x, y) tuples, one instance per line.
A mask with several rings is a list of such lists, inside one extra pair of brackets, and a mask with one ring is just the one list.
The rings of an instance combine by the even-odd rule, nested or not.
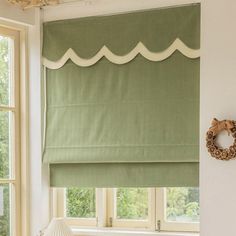
[(0, 104), (10, 104), (12, 39), (0, 35)]

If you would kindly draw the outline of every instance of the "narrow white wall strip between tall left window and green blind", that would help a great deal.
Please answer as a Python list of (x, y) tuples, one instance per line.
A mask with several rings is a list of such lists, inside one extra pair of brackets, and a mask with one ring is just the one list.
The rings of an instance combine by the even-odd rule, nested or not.
[[(28, 28), (29, 43), (29, 157), (30, 235), (36, 236), (48, 221), (48, 203), (43, 201), (41, 134), (41, 14), (35, 10), (35, 25)], [(47, 191), (45, 191), (47, 193)]]

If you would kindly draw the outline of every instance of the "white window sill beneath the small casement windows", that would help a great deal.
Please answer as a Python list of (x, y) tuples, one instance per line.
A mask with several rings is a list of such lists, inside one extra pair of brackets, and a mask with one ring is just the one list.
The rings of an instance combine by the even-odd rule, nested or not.
[(76, 236), (199, 236), (199, 233), (157, 232), (117, 228), (72, 228)]

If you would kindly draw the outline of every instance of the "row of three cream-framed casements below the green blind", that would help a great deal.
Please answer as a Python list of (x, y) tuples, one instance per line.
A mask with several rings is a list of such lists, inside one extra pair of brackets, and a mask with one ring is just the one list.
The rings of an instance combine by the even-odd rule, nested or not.
[(199, 231), (198, 188), (55, 188), (55, 202), (72, 226)]

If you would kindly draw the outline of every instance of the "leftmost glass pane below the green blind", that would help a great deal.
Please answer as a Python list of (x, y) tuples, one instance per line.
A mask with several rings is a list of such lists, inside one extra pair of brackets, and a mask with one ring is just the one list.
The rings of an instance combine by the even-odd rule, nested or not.
[(67, 188), (66, 216), (78, 218), (95, 218), (95, 199), (95, 188)]

